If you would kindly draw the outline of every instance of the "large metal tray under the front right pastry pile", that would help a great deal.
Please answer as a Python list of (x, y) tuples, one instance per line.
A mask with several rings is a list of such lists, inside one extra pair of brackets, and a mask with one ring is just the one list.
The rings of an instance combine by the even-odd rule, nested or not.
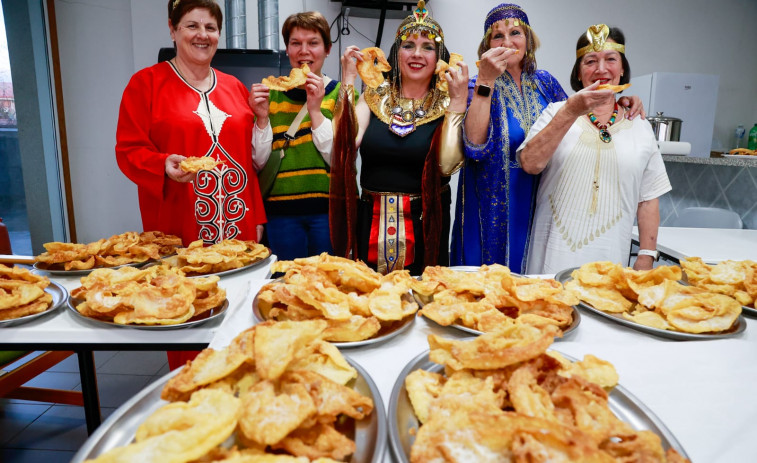
[[(415, 441), (415, 432), (420, 422), (415, 417), (413, 406), (405, 390), (405, 378), (411, 372), (419, 369), (434, 373), (443, 373), (444, 367), (431, 362), (426, 351), (413, 360), (402, 370), (392, 388), (389, 399), (389, 447), (397, 461), (410, 462), (410, 449)], [(562, 354), (566, 359), (576, 361), (575, 358)], [(636, 430), (649, 430), (660, 436), (664, 448), (674, 448), (683, 457), (688, 458), (686, 451), (665, 424), (639, 399), (628, 392), (623, 386), (617, 385), (610, 392), (610, 410)]]

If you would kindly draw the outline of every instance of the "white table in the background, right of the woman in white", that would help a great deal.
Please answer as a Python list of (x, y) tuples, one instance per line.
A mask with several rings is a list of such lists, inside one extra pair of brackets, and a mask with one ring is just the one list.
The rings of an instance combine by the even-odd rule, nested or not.
[[(638, 227), (633, 227), (631, 240), (639, 245)], [(657, 249), (675, 262), (686, 257), (701, 257), (708, 264), (724, 260), (757, 261), (757, 230), (660, 227)]]

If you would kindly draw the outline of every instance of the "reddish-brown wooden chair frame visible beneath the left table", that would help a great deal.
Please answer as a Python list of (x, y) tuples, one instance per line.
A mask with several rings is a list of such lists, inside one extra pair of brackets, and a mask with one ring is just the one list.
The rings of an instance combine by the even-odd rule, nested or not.
[(84, 398), (79, 391), (23, 386), (30, 379), (73, 355), (72, 351), (48, 351), (6, 372), (6, 367), (31, 353), (0, 351), (0, 398), (83, 406)]

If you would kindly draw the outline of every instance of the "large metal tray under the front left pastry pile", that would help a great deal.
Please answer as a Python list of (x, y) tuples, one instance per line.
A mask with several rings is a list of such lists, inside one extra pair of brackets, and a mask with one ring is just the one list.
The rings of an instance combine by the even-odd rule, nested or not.
[[(383, 461), (387, 440), (384, 402), (370, 375), (352, 359), (346, 356), (345, 359), (358, 373), (357, 379), (352, 382), (353, 389), (373, 400), (373, 412), (366, 419), (355, 423), (354, 440), (357, 449), (350, 461), (352, 463), (379, 463)], [(121, 405), (84, 442), (71, 461), (81, 463), (115, 447), (130, 444), (134, 440), (139, 425), (157, 409), (168, 404), (160, 398), (160, 393), (168, 380), (179, 371), (181, 369), (168, 373)]]

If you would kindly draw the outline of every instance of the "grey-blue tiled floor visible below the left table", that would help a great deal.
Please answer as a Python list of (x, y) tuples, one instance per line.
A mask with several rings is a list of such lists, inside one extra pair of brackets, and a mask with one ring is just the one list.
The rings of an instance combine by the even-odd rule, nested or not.
[[(103, 420), (151, 382), (168, 373), (165, 352), (95, 352)], [(76, 355), (27, 383), (81, 390)], [(87, 440), (84, 408), (0, 399), (0, 461), (69, 462)]]

